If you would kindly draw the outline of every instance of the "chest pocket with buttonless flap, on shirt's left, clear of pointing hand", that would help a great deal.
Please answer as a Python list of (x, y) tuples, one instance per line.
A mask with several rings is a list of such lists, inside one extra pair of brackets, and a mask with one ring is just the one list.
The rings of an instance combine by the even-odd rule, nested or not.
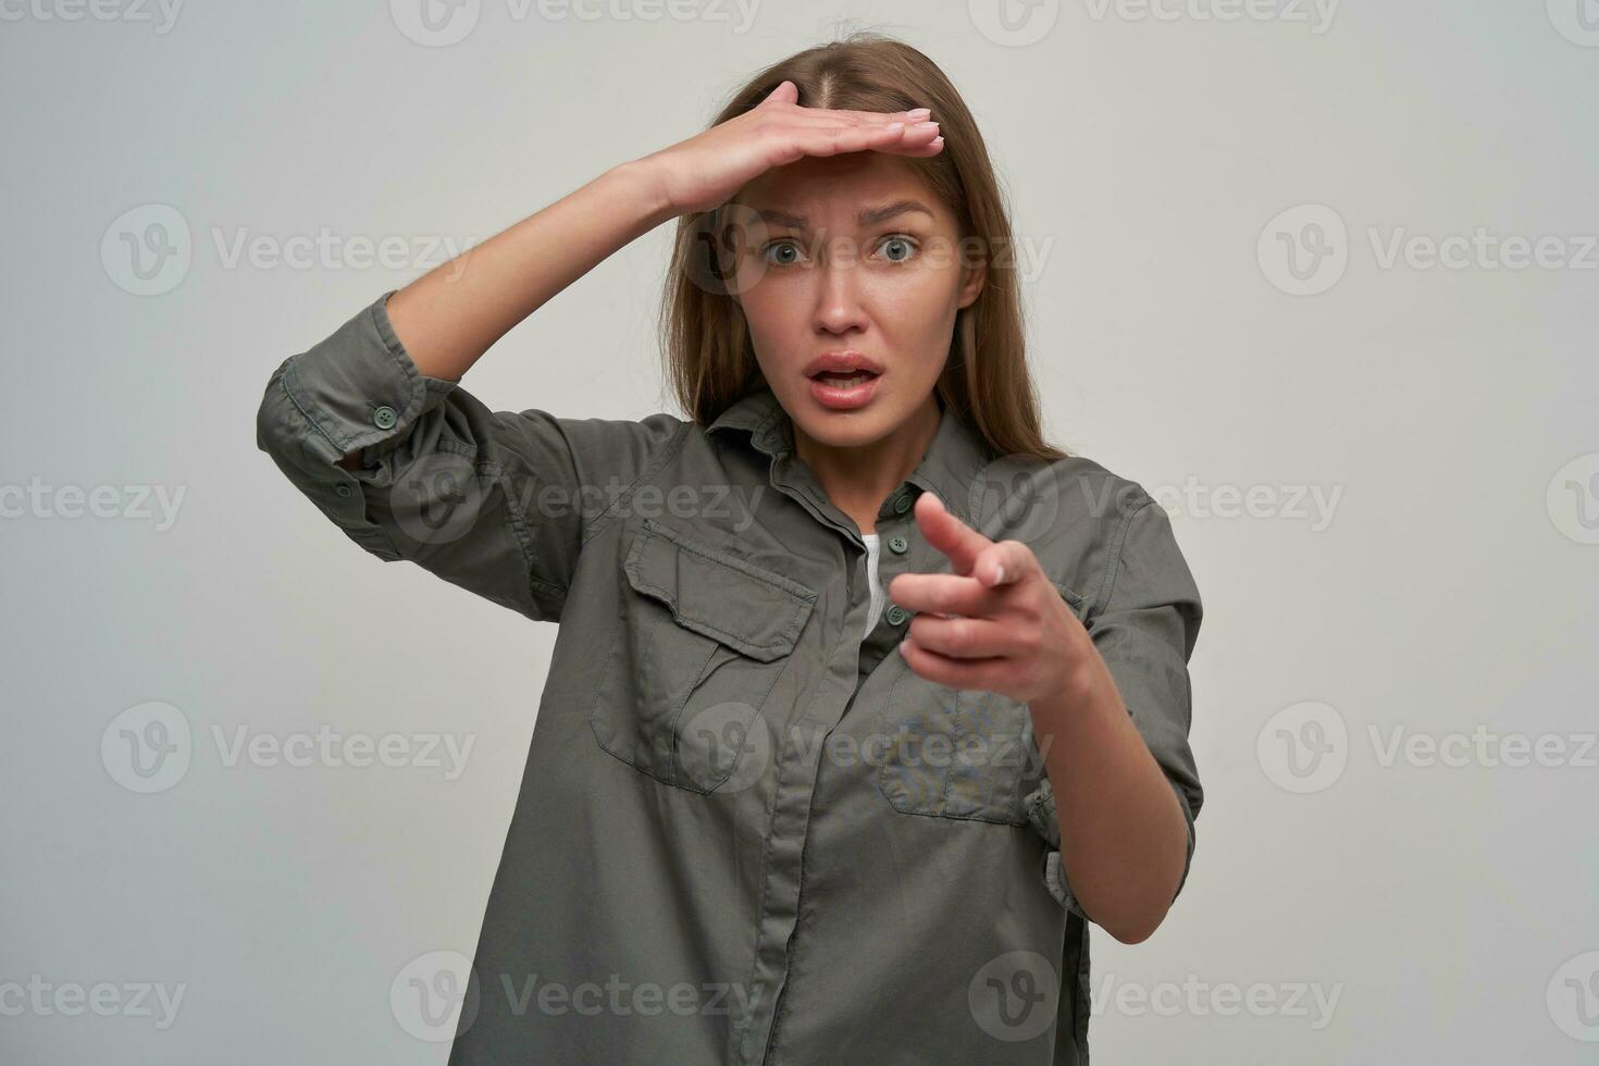
[(815, 591), (646, 518), (622, 564), (620, 625), (588, 722), (600, 746), (710, 793), (766, 758), (760, 718)]

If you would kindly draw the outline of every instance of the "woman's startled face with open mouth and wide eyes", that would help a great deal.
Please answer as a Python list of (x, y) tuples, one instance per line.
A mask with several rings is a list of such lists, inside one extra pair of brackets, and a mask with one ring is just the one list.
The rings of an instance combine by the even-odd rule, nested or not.
[[(734, 299), (796, 435), (870, 444), (934, 403), (955, 313), (983, 272), (911, 166), (883, 152), (804, 157), (736, 203)], [(852, 384), (857, 364), (865, 380)]]

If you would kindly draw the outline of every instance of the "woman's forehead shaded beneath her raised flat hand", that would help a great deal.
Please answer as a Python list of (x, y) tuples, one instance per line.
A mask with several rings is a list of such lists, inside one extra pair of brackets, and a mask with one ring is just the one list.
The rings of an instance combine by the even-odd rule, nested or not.
[[(830, 229), (854, 225), (860, 208), (897, 200), (926, 205), (942, 225), (955, 222), (921, 174), (903, 157), (886, 152), (807, 155), (766, 171), (739, 190), (736, 200), (755, 209), (803, 214), (811, 225), (825, 224)], [(915, 213), (902, 217), (927, 216)]]

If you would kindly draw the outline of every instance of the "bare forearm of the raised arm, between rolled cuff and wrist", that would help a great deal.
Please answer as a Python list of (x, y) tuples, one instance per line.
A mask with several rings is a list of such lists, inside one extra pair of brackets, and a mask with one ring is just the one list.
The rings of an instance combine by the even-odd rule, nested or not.
[(516, 323), (672, 216), (652, 165), (620, 163), (395, 292), (389, 321), (422, 374), (459, 380)]

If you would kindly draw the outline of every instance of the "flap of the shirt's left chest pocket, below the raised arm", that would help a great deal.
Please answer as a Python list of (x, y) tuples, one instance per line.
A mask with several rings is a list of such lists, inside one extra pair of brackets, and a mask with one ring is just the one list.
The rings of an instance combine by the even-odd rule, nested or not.
[(628, 583), (672, 609), (678, 625), (750, 658), (771, 662), (793, 650), (815, 593), (646, 518), (628, 548)]

